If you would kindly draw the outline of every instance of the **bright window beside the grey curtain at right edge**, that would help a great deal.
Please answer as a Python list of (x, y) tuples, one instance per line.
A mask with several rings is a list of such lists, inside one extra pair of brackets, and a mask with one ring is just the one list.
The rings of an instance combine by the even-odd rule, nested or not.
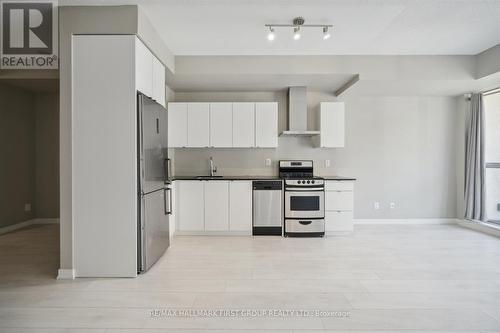
[(484, 101), (485, 217), (500, 223), (500, 90)]

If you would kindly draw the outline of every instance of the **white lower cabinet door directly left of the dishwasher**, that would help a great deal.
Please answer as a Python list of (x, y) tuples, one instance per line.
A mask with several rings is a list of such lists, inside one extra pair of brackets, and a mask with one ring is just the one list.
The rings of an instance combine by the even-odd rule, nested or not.
[(252, 182), (229, 183), (229, 230), (252, 234)]

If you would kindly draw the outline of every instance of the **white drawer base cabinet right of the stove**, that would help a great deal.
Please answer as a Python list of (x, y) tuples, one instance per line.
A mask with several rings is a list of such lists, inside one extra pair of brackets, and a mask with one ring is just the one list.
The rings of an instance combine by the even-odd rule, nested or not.
[(353, 231), (354, 182), (325, 182), (325, 231), (342, 234)]

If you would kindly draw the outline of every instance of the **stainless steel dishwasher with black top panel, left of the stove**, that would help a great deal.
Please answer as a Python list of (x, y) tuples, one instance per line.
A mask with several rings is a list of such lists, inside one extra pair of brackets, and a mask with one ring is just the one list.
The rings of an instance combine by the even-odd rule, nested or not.
[(281, 236), (283, 233), (283, 183), (281, 180), (255, 180), (253, 185), (254, 236)]

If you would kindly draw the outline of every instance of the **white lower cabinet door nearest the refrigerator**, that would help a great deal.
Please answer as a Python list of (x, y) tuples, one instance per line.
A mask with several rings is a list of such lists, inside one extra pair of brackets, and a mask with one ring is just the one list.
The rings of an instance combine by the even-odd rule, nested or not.
[(203, 231), (205, 229), (205, 195), (204, 182), (197, 180), (178, 181), (176, 214), (177, 230)]

